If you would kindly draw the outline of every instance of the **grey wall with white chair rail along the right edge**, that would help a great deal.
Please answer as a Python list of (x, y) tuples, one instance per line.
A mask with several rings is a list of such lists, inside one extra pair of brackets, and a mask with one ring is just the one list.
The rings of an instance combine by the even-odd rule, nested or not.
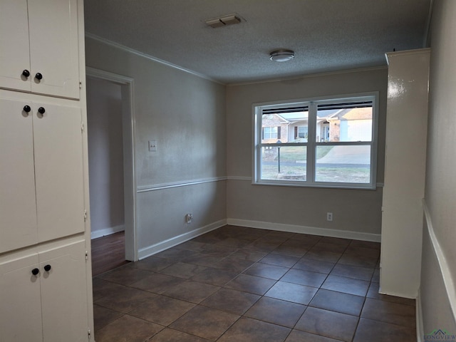
[[(456, 1), (434, 1), (420, 299), (424, 333), (455, 334)], [(437, 258), (438, 257), (438, 258)]]

